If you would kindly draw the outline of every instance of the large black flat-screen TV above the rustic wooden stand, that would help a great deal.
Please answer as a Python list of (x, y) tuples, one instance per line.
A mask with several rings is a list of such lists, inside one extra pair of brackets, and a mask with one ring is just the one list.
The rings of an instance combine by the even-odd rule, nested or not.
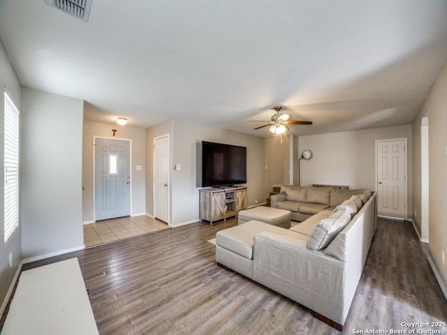
[(247, 148), (202, 141), (202, 187), (247, 183)]

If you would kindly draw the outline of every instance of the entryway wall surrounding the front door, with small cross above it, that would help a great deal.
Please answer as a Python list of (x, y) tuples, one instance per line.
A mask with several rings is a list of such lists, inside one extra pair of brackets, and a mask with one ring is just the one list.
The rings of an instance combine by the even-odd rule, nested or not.
[[(145, 165), (146, 165), (146, 140), (145, 129), (118, 124), (103, 124), (99, 122), (84, 121), (82, 144), (82, 221), (94, 222), (94, 180), (93, 180), (93, 137), (112, 136), (112, 129), (116, 129), (117, 139), (126, 138), (132, 140), (131, 156), (131, 216), (146, 213), (145, 202)], [(136, 170), (135, 165), (141, 165), (142, 170)]]

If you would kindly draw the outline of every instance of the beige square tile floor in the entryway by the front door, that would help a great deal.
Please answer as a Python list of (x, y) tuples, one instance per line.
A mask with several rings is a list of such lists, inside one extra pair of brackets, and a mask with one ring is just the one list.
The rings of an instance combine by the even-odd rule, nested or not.
[(111, 218), (84, 225), (84, 244), (95, 246), (166, 228), (166, 223), (145, 215)]

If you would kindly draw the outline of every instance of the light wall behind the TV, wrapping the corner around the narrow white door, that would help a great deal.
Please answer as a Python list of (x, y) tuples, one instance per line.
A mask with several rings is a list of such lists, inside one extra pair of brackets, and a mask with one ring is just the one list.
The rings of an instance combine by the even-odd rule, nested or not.
[[(174, 119), (158, 124), (146, 131), (147, 143), (147, 211), (154, 215), (153, 150), (154, 137), (170, 134), (170, 224), (173, 226), (197, 222), (199, 218), (201, 142), (219, 142), (247, 147), (247, 198), (248, 205), (265, 202), (264, 139), (222, 128), (207, 126), (186, 119)], [(149, 147), (150, 145), (150, 147)], [(150, 149), (149, 149), (150, 148)], [(182, 170), (173, 170), (173, 164)]]

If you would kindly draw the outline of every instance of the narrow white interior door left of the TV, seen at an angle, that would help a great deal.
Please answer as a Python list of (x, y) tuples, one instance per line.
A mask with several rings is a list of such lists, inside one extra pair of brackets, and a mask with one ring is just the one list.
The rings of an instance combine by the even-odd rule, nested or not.
[(154, 216), (169, 224), (169, 136), (154, 138)]

